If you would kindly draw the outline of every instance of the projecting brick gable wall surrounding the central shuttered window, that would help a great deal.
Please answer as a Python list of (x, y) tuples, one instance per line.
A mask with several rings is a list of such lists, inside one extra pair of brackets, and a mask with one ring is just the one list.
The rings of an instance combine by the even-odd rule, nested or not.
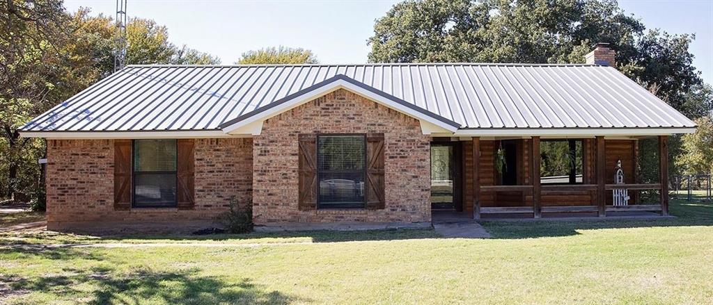
[[(312, 132), (384, 133), (386, 209), (298, 210), (297, 135)], [(430, 139), (412, 117), (337, 90), (268, 119), (254, 144), (256, 223), (431, 220)]]

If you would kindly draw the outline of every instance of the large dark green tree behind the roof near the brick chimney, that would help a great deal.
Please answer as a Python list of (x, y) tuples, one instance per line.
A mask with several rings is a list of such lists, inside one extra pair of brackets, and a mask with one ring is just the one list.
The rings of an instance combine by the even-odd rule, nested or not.
[(622, 73), (697, 117), (711, 107), (687, 100), (702, 85), (693, 38), (647, 31), (613, 0), (406, 0), (376, 20), (369, 61), (583, 63), (608, 42)]

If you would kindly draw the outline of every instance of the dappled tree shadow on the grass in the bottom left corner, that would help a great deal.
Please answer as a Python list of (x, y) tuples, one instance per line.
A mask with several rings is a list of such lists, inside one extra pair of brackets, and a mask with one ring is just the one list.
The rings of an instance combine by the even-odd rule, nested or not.
[[(0, 282), (9, 283), (21, 294), (42, 291), (56, 295), (56, 301), (82, 300), (88, 304), (289, 304), (309, 302), (279, 291), (267, 291), (250, 279), (227, 282), (219, 277), (200, 276), (198, 270), (153, 272), (140, 269), (130, 274), (117, 274), (113, 269), (66, 269), (62, 274), (31, 279), (0, 274)], [(91, 289), (88, 289), (91, 287)]]

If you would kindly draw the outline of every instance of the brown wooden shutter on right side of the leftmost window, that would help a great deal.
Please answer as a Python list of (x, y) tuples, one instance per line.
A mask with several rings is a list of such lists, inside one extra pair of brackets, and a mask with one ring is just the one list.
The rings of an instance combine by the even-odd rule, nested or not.
[(193, 210), (195, 207), (194, 186), (195, 186), (195, 140), (178, 140), (178, 164), (176, 176), (178, 178), (178, 190), (176, 190), (176, 201), (179, 210)]

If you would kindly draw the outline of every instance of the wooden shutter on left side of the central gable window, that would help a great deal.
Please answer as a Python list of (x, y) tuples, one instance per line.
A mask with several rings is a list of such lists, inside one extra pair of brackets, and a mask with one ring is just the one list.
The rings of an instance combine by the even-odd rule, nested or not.
[(299, 210), (317, 208), (317, 137), (299, 134)]

